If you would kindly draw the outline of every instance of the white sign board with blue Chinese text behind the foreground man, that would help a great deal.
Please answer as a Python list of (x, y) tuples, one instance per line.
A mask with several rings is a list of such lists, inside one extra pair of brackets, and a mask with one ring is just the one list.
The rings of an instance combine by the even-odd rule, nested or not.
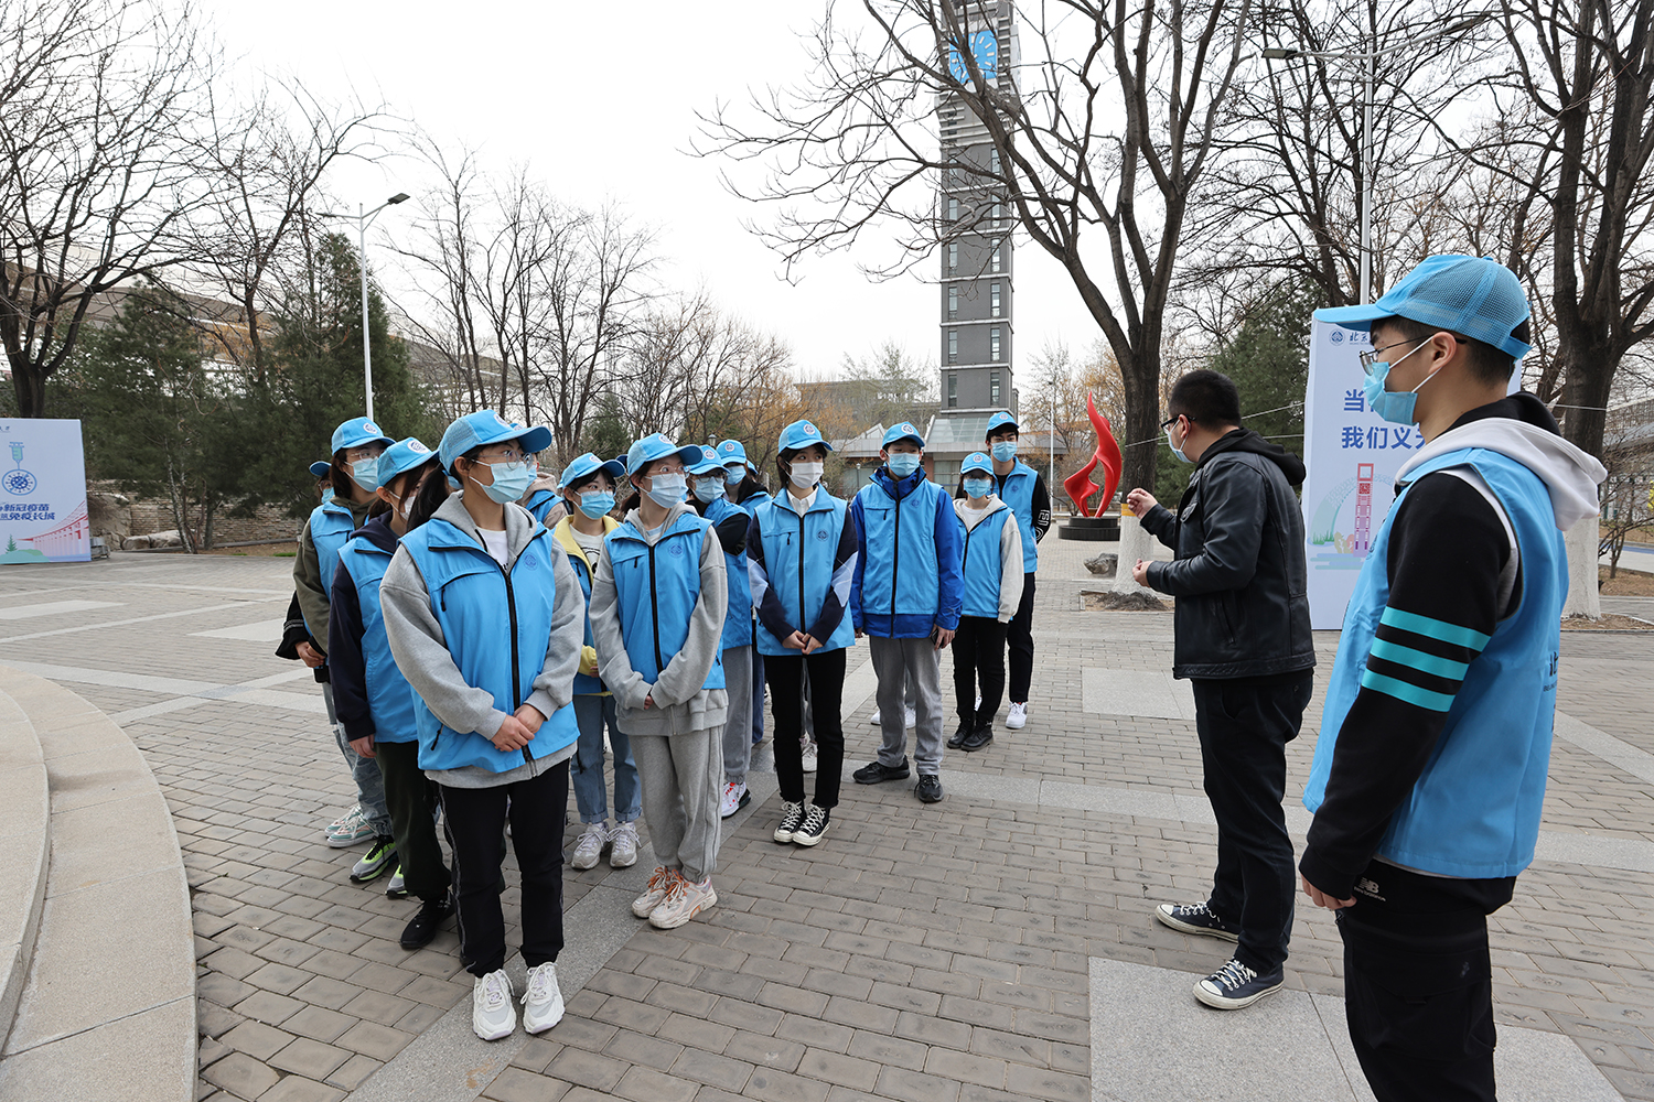
[(1303, 395), (1303, 537), (1310, 567), (1310, 626), (1338, 629), (1396, 474), (1419, 448), (1417, 425), (1391, 425), (1361, 395), (1365, 327), (1310, 324), (1310, 383)]

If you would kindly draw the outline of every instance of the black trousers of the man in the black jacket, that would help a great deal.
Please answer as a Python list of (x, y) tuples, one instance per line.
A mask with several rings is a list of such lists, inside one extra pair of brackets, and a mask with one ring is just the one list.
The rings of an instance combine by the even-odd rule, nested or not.
[(1236, 960), (1269, 973), (1287, 960), (1298, 874), (1280, 801), (1313, 674), (1194, 681), (1206, 796), (1217, 818), (1211, 909), (1239, 924)]

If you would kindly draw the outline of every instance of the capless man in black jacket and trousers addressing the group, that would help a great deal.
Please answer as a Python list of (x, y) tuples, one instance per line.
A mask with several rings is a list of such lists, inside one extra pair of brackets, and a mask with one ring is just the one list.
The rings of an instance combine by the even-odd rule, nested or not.
[(1303, 560), (1303, 517), (1292, 487), (1303, 463), (1240, 428), (1240, 395), (1217, 372), (1171, 388), (1163, 428), (1194, 476), (1173, 515), (1146, 491), (1126, 504), (1176, 550), (1138, 560), (1138, 585), (1178, 598), (1173, 676), (1194, 686), (1206, 795), (1217, 818), (1212, 894), (1161, 904), (1154, 917), (1183, 933), (1237, 942), (1234, 958), (1194, 985), (1217, 1009), (1279, 991), (1292, 937), (1295, 869), (1287, 816), (1287, 743), (1310, 702), (1315, 643)]

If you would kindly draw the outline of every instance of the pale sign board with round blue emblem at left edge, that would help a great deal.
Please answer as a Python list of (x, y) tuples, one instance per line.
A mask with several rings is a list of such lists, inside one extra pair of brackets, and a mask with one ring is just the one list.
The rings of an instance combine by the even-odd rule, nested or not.
[(0, 421), (0, 563), (89, 562), (79, 421)]

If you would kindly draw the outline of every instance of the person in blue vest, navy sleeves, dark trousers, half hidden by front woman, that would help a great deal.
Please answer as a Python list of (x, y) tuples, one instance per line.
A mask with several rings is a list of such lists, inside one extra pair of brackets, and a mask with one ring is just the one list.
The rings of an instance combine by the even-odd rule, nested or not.
[(379, 585), (409, 530), (420, 482), (437, 473), (437, 453), (409, 436), (379, 456), (379, 489), (367, 524), (339, 550), (327, 623), (332, 694), (351, 748), (370, 758), (385, 785), (395, 834), (397, 874), (387, 895), (414, 895), (418, 914), (402, 930), (402, 948), (430, 945), (453, 914), (453, 877), (437, 843), (437, 788), (418, 767), (414, 689), (397, 669), (379, 608)]

